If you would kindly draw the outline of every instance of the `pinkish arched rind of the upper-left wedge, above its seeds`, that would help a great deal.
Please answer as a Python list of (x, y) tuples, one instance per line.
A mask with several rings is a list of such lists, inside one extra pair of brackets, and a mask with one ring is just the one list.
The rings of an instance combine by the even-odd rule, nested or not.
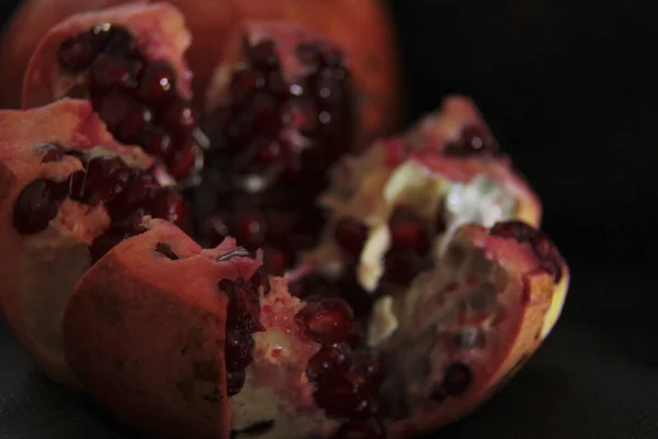
[(61, 98), (73, 82), (57, 61), (57, 52), (69, 36), (110, 23), (126, 27), (147, 59), (166, 61), (177, 71), (175, 87), (183, 98), (192, 97), (192, 71), (184, 53), (191, 34), (179, 10), (169, 3), (135, 2), (99, 12), (75, 14), (49, 30), (32, 55), (23, 79), (22, 106), (30, 109)]

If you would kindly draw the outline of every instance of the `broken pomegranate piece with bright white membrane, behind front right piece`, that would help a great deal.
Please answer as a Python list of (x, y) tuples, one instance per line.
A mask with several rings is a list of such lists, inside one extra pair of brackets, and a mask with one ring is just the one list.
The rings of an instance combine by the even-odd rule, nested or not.
[(355, 273), (358, 282), (342, 293), (349, 302), (406, 288), (463, 224), (536, 225), (541, 217), (536, 195), (461, 97), (405, 135), (343, 158), (333, 172), (320, 198), (330, 213), (324, 239), (303, 259), (334, 281)]

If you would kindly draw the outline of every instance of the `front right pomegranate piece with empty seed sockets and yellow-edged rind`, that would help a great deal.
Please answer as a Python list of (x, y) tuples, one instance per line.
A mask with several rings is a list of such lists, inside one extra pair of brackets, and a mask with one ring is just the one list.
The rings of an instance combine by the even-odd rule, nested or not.
[[(500, 233), (520, 227), (531, 240)], [(538, 239), (555, 266), (537, 254)], [(490, 397), (548, 335), (568, 283), (558, 250), (527, 224), (502, 222), (490, 229), (468, 224), (455, 230), (433, 269), (386, 306), (375, 305), (381, 315), (373, 316), (371, 334), (381, 331), (384, 314), (393, 322), (376, 346), (393, 356), (402, 389), (396, 390), (393, 416), (405, 418), (392, 420), (389, 434), (431, 431)]]

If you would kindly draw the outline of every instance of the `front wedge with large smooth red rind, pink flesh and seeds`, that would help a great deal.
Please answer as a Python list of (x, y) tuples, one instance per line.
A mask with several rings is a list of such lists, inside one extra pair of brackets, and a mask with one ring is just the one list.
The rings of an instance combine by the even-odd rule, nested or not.
[(382, 423), (384, 359), (350, 345), (345, 302), (292, 296), (232, 238), (202, 250), (167, 222), (145, 227), (87, 272), (64, 318), (68, 362), (116, 417), (200, 438)]

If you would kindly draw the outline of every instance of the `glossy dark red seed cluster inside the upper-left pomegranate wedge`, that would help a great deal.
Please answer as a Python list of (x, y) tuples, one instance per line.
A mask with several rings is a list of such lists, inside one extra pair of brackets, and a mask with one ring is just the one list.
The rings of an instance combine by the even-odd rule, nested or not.
[(66, 74), (88, 71), (67, 95), (91, 100), (117, 139), (161, 159), (177, 180), (198, 172), (196, 116), (177, 93), (171, 66), (147, 60), (131, 33), (111, 24), (67, 38), (57, 56)]

